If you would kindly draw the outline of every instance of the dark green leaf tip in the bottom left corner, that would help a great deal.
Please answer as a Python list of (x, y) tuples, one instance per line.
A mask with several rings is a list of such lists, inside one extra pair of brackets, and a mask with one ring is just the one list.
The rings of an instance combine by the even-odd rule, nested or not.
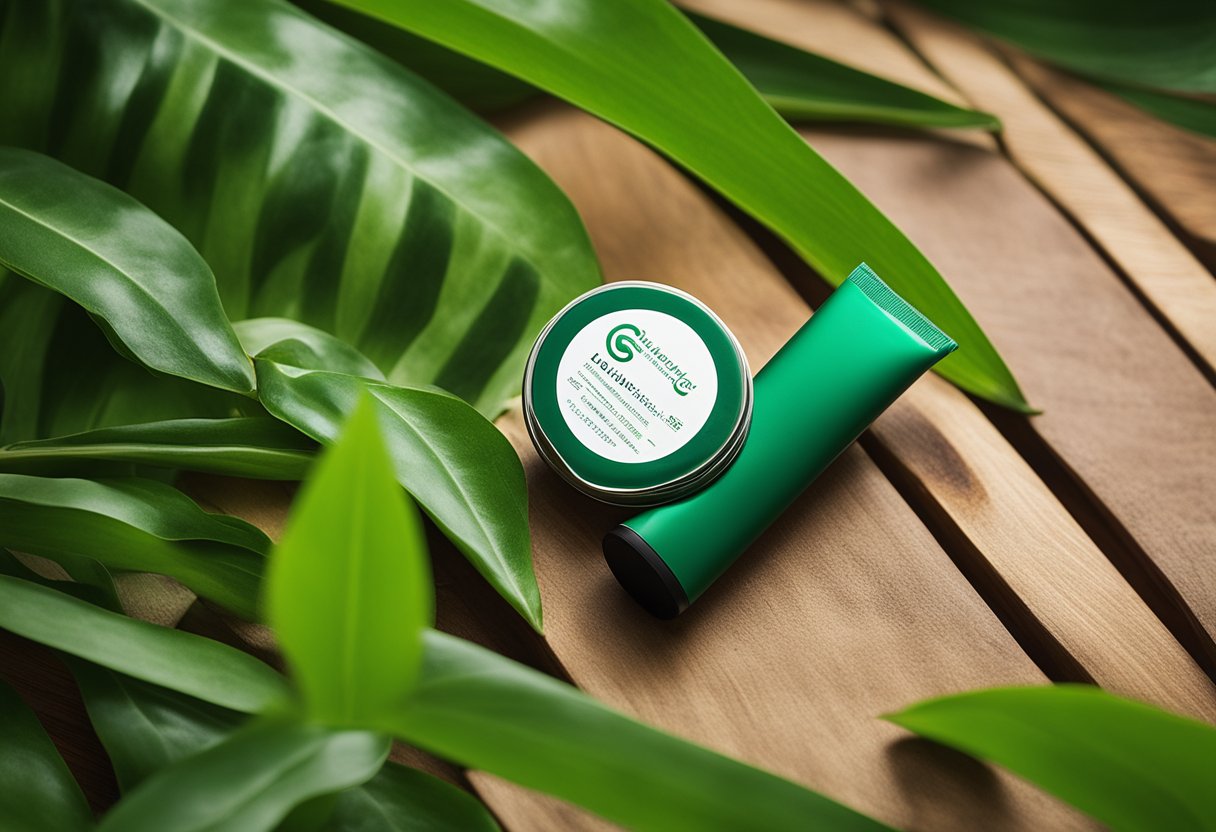
[(17, 692), (0, 682), (0, 828), (73, 832), (92, 813), (46, 731)]

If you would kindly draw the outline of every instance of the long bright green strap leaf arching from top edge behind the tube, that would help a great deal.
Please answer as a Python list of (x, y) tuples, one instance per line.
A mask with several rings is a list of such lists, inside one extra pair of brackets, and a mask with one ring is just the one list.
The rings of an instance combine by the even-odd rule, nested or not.
[(705, 180), (829, 282), (861, 262), (958, 342), (959, 387), (1025, 409), (1017, 382), (933, 265), (665, 0), (334, 0), (510, 72)]

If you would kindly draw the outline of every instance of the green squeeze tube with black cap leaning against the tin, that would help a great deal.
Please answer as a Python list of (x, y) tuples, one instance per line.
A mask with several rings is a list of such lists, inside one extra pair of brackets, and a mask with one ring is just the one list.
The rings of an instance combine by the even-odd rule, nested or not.
[(679, 615), (956, 347), (858, 265), (756, 375), (751, 429), (733, 465), (705, 489), (604, 536), (617, 580), (654, 615)]

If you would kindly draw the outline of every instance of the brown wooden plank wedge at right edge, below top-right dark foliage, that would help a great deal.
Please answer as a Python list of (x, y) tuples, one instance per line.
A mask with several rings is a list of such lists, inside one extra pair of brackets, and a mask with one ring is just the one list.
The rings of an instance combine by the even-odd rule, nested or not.
[(1216, 269), (1216, 141), (1038, 61), (1008, 57), (1021, 79), (1097, 145)]

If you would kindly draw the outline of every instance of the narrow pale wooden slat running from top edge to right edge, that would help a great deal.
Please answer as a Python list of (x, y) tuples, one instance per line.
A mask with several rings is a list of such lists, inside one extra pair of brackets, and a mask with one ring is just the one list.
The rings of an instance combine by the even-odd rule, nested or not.
[(905, 2), (888, 10), (946, 78), (1001, 118), (1009, 157), (1085, 229), (1209, 376), (1216, 373), (1216, 281), (1195, 255), (978, 36)]

